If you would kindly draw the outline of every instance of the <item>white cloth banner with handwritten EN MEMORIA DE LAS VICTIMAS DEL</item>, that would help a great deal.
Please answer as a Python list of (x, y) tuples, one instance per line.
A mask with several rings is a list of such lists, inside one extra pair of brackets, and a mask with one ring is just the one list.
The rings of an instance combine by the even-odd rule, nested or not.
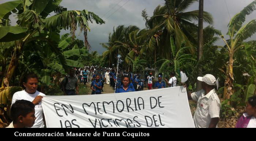
[(195, 127), (184, 87), (121, 94), (44, 96), (47, 127)]

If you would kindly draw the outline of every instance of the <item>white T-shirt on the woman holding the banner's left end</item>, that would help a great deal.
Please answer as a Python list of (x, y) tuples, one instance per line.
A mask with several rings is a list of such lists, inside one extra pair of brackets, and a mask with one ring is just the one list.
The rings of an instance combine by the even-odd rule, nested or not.
[[(15, 103), (16, 100), (28, 100), (32, 102), (35, 97), (37, 96), (45, 96), (45, 94), (36, 91), (35, 94), (29, 94), (25, 90), (15, 92), (15, 94), (12, 96), (12, 104)], [(39, 102), (39, 104), (35, 105), (35, 123), (31, 128), (44, 128), (44, 121), (43, 121), (43, 108), (42, 103)]]

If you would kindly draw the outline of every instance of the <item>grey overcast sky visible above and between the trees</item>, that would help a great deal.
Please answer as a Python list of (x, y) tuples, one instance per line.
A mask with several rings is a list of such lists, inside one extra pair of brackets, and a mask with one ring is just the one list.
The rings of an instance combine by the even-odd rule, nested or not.
[[(10, 0), (2, 0), (0, 3), (6, 1)], [(231, 18), (252, 1), (253, 0), (226, 0)], [(119, 25), (135, 25), (143, 29), (145, 28), (145, 21), (141, 16), (142, 10), (147, 9), (148, 15), (151, 16), (155, 7), (159, 4), (162, 5), (163, 3), (164, 0), (63, 0), (61, 6), (68, 8), (68, 10), (87, 9), (88, 11), (99, 15), (103, 20), (111, 15), (105, 20), (106, 24), (102, 24), (101, 26), (90, 24), (92, 30), (88, 33), (88, 38), (89, 43), (92, 46), (92, 51), (97, 51), (99, 54), (102, 54), (105, 49), (101, 47), (100, 43), (108, 42), (108, 35), (113, 31), (113, 27)], [(124, 6), (121, 7), (122, 5)], [(197, 10), (199, 8), (198, 5), (199, 3), (194, 3), (188, 11)], [(110, 9), (111, 11), (108, 12)], [(115, 12), (117, 9), (119, 10)], [(225, 0), (204, 0), (204, 11), (212, 14), (214, 18), (213, 26), (216, 29), (221, 30), (223, 35), (226, 35), (230, 16), (226, 8)], [(108, 14), (106, 14), (107, 12)], [(255, 15), (256, 12), (253, 12), (253, 14), (247, 16), (245, 23), (256, 19)], [(208, 25), (204, 24), (204, 26)], [(69, 31), (62, 31), (61, 33), (65, 32), (69, 33)], [(77, 38), (84, 40), (83, 34), (80, 36), (78, 34), (79, 31), (76, 35)], [(225, 36), (225, 38), (228, 39), (227, 36)], [(256, 35), (253, 35), (251, 39), (256, 39)], [(217, 45), (223, 46), (224, 43), (222, 40), (219, 40)]]

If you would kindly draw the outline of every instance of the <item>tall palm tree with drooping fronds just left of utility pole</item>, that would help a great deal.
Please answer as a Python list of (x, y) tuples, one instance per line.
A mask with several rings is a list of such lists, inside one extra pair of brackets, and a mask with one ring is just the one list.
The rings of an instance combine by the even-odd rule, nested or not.
[[(161, 33), (160, 49), (158, 52), (162, 53), (163, 58), (171, 58), (170, 50), (170, 37), (174, 37), (175, 44), (180, 47), (181, 43), (187, 41), (188, 46), (196, 45), (197, 42), (191, 33), (197, 31), (197, 25), (193, 20), (198, 20), (199, 11), (185, 12), (197, 0), (165, 0), (164, 6), (158, 6), (151, 18), (147, 20), (149, 33)], [(160, 21), (160, 22), (159, 22)], [(208, 12), (204, 12), (204, 22), (212, 24), (212, 16)], [(168, 50), (168, 51), (167, 51)], [(193, 53), (194, 49), (191, 48), (190, 52)]]

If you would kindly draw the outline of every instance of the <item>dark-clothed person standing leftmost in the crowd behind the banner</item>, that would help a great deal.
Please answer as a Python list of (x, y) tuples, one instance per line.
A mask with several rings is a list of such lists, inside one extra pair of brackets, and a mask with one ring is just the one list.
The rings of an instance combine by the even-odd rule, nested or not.
[(76, 95), (79, 93), (78, 80), (74, 77), (75, 70), (70, 69), (69, 76), (65, 77), (61, 83), (64, 95)]

